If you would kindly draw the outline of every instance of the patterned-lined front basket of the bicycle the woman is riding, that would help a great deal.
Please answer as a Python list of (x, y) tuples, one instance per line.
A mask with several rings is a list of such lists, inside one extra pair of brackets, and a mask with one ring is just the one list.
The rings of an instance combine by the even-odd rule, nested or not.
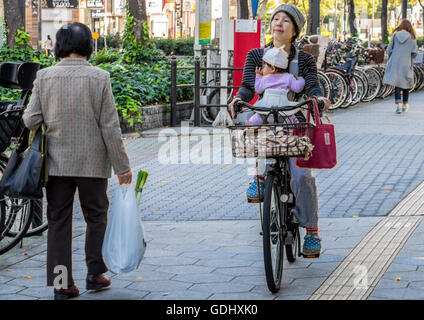
[(296, 157), (309, 159), (314, 146), (310, 123), (231, 126), (230, 139), (235, 158)]

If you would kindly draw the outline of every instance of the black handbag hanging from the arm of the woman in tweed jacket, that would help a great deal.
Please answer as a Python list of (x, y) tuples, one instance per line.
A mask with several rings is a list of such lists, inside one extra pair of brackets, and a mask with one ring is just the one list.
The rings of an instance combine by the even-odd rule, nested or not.
[(25, 151), (12, 151), (0, 180), (0, 194), (30, 200), (43, 198), (42, 187), (47, 182), (46, 137), (43, 124), (35, 132), (34, 140)]

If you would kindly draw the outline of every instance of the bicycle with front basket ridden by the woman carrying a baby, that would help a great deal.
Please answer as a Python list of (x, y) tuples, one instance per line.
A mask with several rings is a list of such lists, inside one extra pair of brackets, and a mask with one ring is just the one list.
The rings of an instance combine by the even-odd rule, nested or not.
[[(297, 257), (318, 258), (319, 255), (305, 256), (301, 250), (300, 225), (294, 215), (296, 198), (290, 187), (290, 166), (292, 157), (304, 157), (309, 153), (307, 147), (292, 149), (287, 146), (275, 146), (269, 149), (264, 143), (268, 142), (267, 134), (280, 134), (282, 139), (293, 141), (304, 141), (311, 143), (314, 126), (306, 122), (292, 122), (289, 116), (302, 109), (308, 110), (311, 104), (317, 101), (311, 99), (296, 105), (284, 107), (255, 107), (243, 101), (236, 102), (236, 108), (247, 107), (252, 111), (262, 112), (268, 118), (270, 115), (277, 119), (275, 124), (263, 125), (235, 125), (230, 126), (231, 147), (234, 157), (272, 159), (267, 166), (265, 188), (262, 201), (259, 203), (260, 220), (262, 227), (263, 254), (265, 276), (268, 289), (275, 293), (281, 286), (283, 273), (284, 251), (290, 263), (296, 261)], [(308, 107), (304, 107), (309, 105)], [(322, 106), (322, 103), (319, 102)], [(281, 116), (281, 117), (280, 117)], [(281, 119), (281, 120), (280, 120)], [(263, 132), (260, 132), (263, 130)], [(261, 136), (262, 135), (262, 136)], [(272, 134), (270, 134), (272, 136)], [(264, 138), (265, 140), (261, 139)], [(261, 142), (262, 140), (262, 142)], [(281, 140), (280, 140), (281, 141)], [(257, 178), (258, 179), (258, 178)], [(259, 185), (259, 181), (257, 181)], [(259, 189), (260, 192), (260, 189)], [(259, 194), (259, 198), (261, 195)]]

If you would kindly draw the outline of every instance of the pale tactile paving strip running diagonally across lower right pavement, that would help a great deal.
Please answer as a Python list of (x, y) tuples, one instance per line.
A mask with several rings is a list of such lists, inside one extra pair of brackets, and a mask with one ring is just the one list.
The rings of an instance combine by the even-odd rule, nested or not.
[(364, 300), (373, 292), (424, 216), (424, 183), (372, 228), (309, 300)]

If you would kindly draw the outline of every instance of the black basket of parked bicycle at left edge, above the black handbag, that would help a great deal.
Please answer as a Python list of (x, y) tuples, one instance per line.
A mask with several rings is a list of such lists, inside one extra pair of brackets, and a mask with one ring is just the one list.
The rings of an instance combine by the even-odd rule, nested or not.
[(14, 110), (14, 106), (15, 102), (0, 102), (0, 152), (9, 147), (12, 137), (18, 136), (25, 126), (23, 109)]

